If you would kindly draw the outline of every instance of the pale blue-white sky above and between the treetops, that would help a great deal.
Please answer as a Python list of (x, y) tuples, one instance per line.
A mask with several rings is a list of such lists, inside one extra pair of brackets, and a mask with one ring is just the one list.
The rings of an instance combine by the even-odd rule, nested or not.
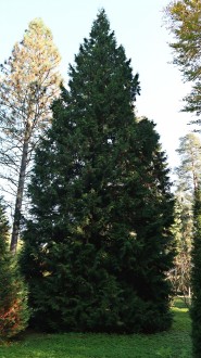
[(181, 73), (171, 64), (171, 35), (163, 26), (163, 9), (168, 3), (169, 0), (0, 0), (0, 63), (22, 40), (28, 23), (41, 17), (52, 31), (67, 81), (68, 64), (73, 64), (84, 37), (89, 37), (99, 9), (104, 8), (117, 42), (131, 59), (134, 74), (139, 73), (138, 115), (156, 124), (173, 168), (179, 163), (175, 153), (179, 138), (193, 127), (187, 125), (191, 115), (180, 112), (190, 87), (183, 84)]

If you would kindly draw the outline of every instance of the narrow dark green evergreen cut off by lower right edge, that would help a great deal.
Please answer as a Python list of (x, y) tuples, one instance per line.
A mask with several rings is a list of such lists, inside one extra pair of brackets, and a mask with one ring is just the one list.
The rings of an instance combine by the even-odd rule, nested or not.
[(192, 343), (193, 357), (199, 358), (201, 351), (201, 191), (194, 192), (193, 205), (194, 234), (192, 246)]

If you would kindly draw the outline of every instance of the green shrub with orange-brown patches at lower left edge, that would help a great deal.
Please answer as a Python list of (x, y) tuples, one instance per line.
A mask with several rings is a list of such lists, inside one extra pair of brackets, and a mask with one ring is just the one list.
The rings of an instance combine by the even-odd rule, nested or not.
[(9, 223), (0, 203), (0, 340), (9, 338), (27, 327), (27, 292), (15, 259), (9, 252)]

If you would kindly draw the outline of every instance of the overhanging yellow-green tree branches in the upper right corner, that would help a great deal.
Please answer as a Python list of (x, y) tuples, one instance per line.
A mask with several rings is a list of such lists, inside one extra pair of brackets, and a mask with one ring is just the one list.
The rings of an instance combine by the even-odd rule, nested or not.
[[(174, 63), (183, 72), (184, 79), (192, 82), (192, 90), (184, 100), (184, 111), (201, 114), (201, 2), (200, 0), (172, 1), (165, 10), (167, 25), (174, 35), (171, 47)], [(192, 123), (199, 123), (200, 119)]]

